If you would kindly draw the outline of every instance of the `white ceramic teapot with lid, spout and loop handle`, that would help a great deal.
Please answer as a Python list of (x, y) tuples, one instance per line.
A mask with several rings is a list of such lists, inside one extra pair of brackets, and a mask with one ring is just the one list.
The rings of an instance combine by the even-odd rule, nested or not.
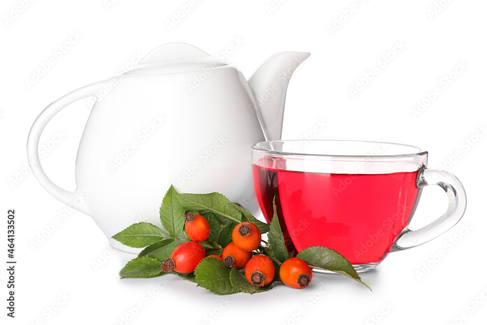
[[(158, 224), (170, 184), (179, 192), (218, 191), (255, 213), (250, 146), (281, 138), (289, 78), (309, 55), (279, 53), (247, 82), (235, 66), (192, 45), (159, 46), (124, 75), (46, 107), (27, 141), (32, 171), (58, 200), (93, 217), (108, 238), (138, 221)], [(76, 156), (76, 190), (66, 191), (38, 163), (39, 138), (60, 110), (90, 96), (96, 102)]]

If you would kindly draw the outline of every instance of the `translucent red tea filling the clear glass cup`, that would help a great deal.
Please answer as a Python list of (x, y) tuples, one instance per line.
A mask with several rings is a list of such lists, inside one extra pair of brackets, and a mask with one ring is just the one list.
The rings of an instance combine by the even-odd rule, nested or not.
[(353, 264), (382, 260), (406, 227), (419, 191), (417, 172), (330, 174), (254, 165), (253, 175), (266, 221), (275, 195), (297, 251), (325, 246)]

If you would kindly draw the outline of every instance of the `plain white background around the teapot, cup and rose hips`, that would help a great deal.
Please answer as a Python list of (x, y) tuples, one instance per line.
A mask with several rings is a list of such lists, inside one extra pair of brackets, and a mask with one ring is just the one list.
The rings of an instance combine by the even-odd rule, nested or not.
[[(437, 0), (443, 7), (437, 5), (436, 13), (433, 0), (276, 0), (280, 5), (275, 10), (266, 7), (271, 0), (197, 0), (171, 30), (166, 22), (188, 0), (23, 2), (25, 9), (19, 7), (22, 1), (4, 0), (0, 10), (0, 201), (2, 220), (7, 209), (16, 210), (18, 260), (15, 319), (5, 316), (6, 272), (0, 268), (2, 324), (126, 324), (124, 319), (127, 324), (485, 322), (487, 136), (480, 127), (487, 121), (487, 2)], [(352, 5), (356, 11), (347, 11)], [(330, 31), (336, 19), (341, 26)], [(63, 45), (70, 38), (72, 44)], [(132, 256), (110, 249), (90, 217), (77, 211), (63, 214), (66, 206), (24, 167), (30, 126), (53, 100), (119, 73), (158, 45), (182, 41), (218, 55), (234, 38), (243, 42), (230, 49), (229, 59), (247, 78), (276, 52), (311, 52), (289, 85), (284, 138), (307, 134), (424, 148), (430, 152), (430, 168), (446, 169), (465, 185), (468, 208), (460, 223), (362, 274), (372, 292), (345, 277), (319, 274), (304, 290), (282, 286), (225, 297), (172, 275), (120, 280), (118, 271)], [(389, 53), (396, 43), (404, 48)], [(69, 47), (62, 57), (59, 46)], [(384, 66), (379, 60), (388, 53), (393, 58)], [(55, 64), (28, 85), (26, 79), (51, 57)], [(462, 62), (466, 68), (444, 87), (441, 79)], [(374, 67), (379, 73), (352, 97), (350, 89)], [(418, 101), (436, 87), (441, 94), (414, 118)], [(87, 103), (63, 110), (41, 139), (49, 144), (55, 132), (63, 134), (41, 162), (66, 189), (75, 188), (76, 148), (89, 111)], [(326, 128), (316, 133), (318, 122)], [(476, 142), (466, 145), (467, 139)], [(448, 163), (455, 152), (461, 157)], [(440, 189), (426, 189), (412, 228), (440, 215), (446, 202)], [(6, 222), (0, 225), (3, 265)], [(42, 243), (33, 247), (36, 241)], [(438, 258), (441, 250), (445, 254)]]

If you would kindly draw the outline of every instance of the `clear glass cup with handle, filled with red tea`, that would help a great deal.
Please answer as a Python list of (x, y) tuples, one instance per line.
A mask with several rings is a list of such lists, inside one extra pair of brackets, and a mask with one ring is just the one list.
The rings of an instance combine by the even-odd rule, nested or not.
[[(288, 250), (335, 249), (359, 272), (376, 268), (389, 252), (430, 241), (462, 218), (467, 206), (462, 183), (427, 164), (427, 151), (396, 143), (279, 140), (252, 146), (262, 213), (270, 223), (276, 203)], [(411, 230), (427, 185), (446, 192), (448, 209)]]

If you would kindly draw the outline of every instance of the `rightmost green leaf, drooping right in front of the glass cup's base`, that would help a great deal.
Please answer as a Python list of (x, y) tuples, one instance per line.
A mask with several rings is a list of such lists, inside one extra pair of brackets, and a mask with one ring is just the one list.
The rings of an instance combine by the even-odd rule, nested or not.
[(319, 246), (308, 247), (301, 250), (296, 257), (311, 266), (343, 274), (370, 289), (369, 286), (362, 282), (352, 264), (333, 249)]

